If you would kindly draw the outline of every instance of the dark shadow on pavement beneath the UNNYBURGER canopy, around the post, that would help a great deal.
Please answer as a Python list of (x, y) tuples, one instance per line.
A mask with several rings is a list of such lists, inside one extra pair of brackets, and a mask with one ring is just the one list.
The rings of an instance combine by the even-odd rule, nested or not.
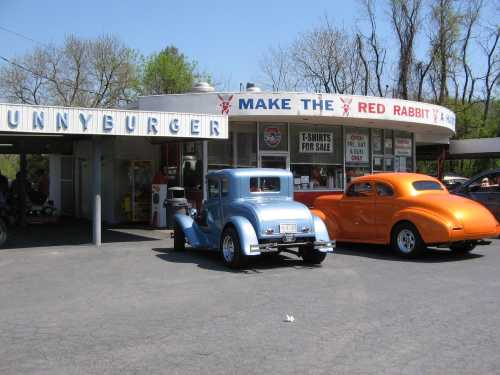
[[(134, 233), (140, 232), (140, 233)], [(102, 242), (156, 241), (146, 226), (104, 227)], [(80, 220), (64, 220), (54, 224), (32, 224), (24, 228), (9, 227), (7, 242), (0, 248), (20, 249), (45, 246), (88, 245), (92, 243), (92, 224)]]

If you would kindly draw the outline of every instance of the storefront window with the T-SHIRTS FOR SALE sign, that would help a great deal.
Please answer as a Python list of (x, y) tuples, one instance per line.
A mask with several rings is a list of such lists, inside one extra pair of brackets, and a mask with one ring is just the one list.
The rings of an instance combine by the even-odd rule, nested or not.
[(336, 126), (290, 125), (290, 169), (296, 191), (342, 189), (341, 134)]

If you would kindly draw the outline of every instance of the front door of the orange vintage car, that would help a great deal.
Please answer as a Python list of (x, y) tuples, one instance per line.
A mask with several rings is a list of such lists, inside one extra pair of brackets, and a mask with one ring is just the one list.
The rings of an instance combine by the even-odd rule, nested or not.
[(339, 202), (340, 226), (346, 239), (370, 240), (375, 237), (373, 183), (352, 183)]

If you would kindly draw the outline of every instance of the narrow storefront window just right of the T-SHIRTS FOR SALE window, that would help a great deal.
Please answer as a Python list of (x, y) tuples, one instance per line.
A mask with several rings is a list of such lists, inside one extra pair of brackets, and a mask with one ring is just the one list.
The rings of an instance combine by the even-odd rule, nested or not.
[(346, 182), (371, 172), (369, 130), (345, 128)]

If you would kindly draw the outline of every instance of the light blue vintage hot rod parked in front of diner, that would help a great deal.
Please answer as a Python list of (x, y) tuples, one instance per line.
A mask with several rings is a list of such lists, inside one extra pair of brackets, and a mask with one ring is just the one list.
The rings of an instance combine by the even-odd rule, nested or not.
[(174, 247), (219, 250), (230, 267), (249, 256), (298, 248), (306, 263), (333, 251), (323, 221), (293, 200), (293, 176), (282, 169), (224, 169), (207, 175), (207, 199), (195, 218), (177, 214)]

